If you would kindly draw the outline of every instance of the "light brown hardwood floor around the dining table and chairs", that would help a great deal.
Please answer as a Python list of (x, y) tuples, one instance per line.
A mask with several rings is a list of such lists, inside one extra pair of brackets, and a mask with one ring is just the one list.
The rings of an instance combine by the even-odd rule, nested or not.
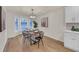
[(29, 43), (23, 43), (22, 35), (19, 35), (8, 39), (4, 52), (72, 52), (65, 48), (62, 42), (49, 37), (44, 37), (43, 42), (44, 46), (40, 42), (39, 48), (37, 45), (30, 46)]

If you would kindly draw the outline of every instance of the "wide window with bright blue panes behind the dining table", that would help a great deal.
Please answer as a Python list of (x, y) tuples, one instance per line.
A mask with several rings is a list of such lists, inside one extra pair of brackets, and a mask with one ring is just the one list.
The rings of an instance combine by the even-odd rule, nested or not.
[(24, 31), (27, 29), (32, 29), (33, 27), (32, 19), (26, 19), (26, 18), (16, 18), (15, 25), (16, 25), (16, 31)]

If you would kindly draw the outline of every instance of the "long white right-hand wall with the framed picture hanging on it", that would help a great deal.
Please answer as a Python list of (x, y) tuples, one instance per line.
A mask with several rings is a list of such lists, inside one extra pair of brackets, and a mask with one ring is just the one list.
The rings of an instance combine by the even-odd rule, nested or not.
[[(41, 27), (43, 17), (48, 17), (48, 28)], [(64, 41), (64, 7), (40, 16), (37, 22), (39, 29), (44, 31), (46, 36)]]

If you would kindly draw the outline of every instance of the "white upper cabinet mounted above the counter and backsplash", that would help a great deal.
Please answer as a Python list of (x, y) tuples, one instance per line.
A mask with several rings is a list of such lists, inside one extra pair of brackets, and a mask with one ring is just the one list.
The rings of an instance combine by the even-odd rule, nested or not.
[(79, 23), (79, 7), (78, 6), (65, 7), (65, 22), (66, 23)]

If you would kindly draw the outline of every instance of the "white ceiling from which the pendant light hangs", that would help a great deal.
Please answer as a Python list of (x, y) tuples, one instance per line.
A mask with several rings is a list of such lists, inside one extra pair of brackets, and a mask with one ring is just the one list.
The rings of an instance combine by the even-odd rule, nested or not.
[(54, 10), (57, 10), (58, 8), (61, 8), (61, 6), (4, 6), (4, 7), (9, 12), (20, 13), (27, 16), (32, 14), (31, 9), (34, 9), (33, 13), (36, 16), (39, 16), (47, 12), (54, 11)]

